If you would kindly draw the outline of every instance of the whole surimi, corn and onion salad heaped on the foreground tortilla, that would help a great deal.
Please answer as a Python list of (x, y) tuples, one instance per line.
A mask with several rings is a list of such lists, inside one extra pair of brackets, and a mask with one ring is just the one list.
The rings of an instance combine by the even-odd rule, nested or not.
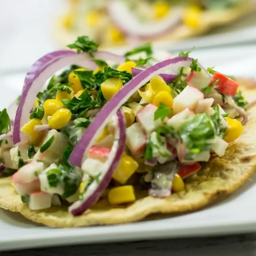
[(1, 175), (31, 210), (68, 203), (77, 216), (102, 197), (135, 202), (135, 186), (166, 198), (242, 134), (238, 83), (189, 52), (121, 56), (88, 36), (68, 47), (32, 65), (14, 119), (0, 112)]

